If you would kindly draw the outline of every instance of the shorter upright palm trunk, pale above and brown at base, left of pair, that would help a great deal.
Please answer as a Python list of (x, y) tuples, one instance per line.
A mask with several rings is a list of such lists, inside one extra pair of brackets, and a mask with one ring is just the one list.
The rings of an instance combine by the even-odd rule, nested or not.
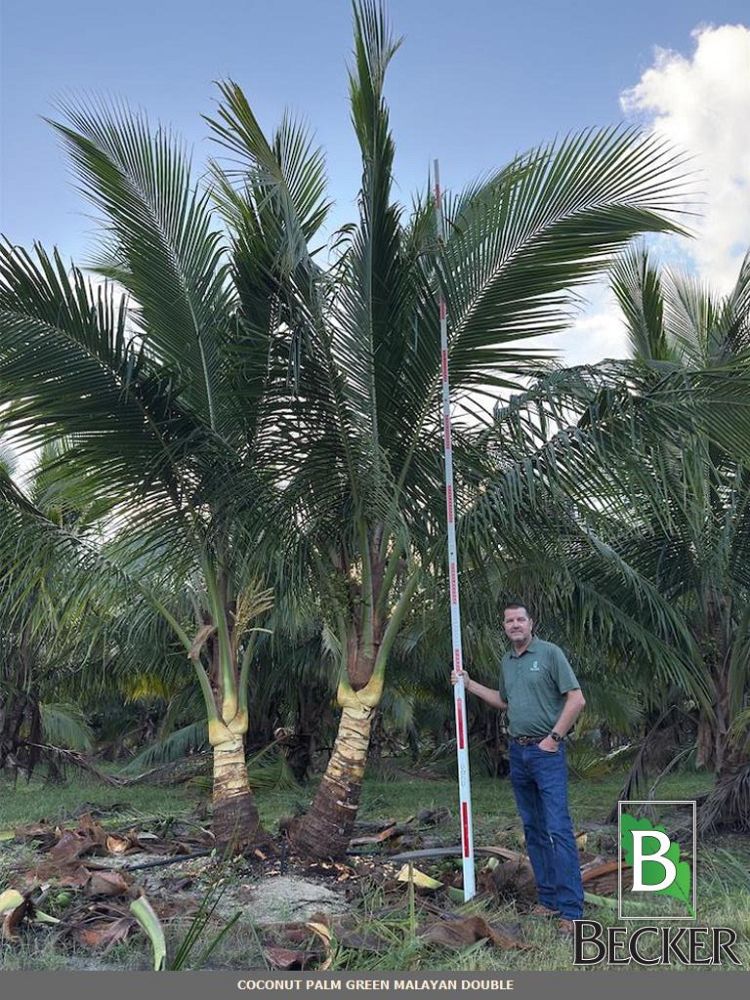
[(226, 731), (214, 751), (213, 832), (216, 846), (228, 853), (240, 853), (258, 842), (260, 817), (250, 789), (245, 763), (244, 734)]

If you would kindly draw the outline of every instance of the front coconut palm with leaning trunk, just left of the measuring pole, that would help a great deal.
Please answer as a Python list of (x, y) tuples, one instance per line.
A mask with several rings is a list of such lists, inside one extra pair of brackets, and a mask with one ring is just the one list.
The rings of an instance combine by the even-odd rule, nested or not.
[[(279, 321), (297, 345), (299, 405), (282, 421), (289, 447), (278, 452), (286, 468), (277, 519), (292, 530), (277, 566), (320, 593), (340, 665), (338, 738), (295, 833), (298, 848), (325, 854), (348, 842), (388, 659), (441, 551), (438, 288), (450, 317), (454, 399), (467, 419), (471, 411), (487, 420), (482, 398), (538, 369), (529, 338), (565, 325), (574, 289), (637, 232), (675, 228), (680, 183), (673, 155), (653, 137), (588, 131), (519, 156), (449, 199), (440, 245), (432, 198), (418, 197), (407, 215), (392, 196), (384, 82), (399, 43), (369, 0), (355, 4), (354, 29), (359, 219), (339, 234), (330, 267), (317, 266), (308, 250), (314, 202), (292, 169), (289, 143), (265, 140), (232, 83), (210, 121), (233, 156), (231, 170), (214, 165), (213, 173), (248, 282), (265, 252), (261, 209), (275, 211), (277, 252), (268, 266)], [(257, 299), (252, 281), (247, 322)], [(468, 489), (487, 470), (486, 456), (466, 421), (453, 445)]]

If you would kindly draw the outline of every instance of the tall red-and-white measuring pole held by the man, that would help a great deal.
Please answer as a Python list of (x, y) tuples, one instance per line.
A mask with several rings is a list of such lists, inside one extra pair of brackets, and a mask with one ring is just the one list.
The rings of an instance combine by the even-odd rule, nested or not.
[[(445, 239), (443, 199), (440, 190), (440, 169), (435, 160), (435, 211), (437, 214), (438, 243)], [(440, 365), (443, 376), (443, 441), (445, 443), (445, 508), (448, 515), (448, 577), (451, 594), (451, 637), (453, 639), (453, 667), (463, 667), (461, 646), (461, 605), (458, 598), (458, 555), (456, 552), (456, 510), (453, 491), (453, 444), (451, 439), (451, 400), (448, 380), (448, 310), (441, 287), (438, 288), (440, 309)], [(471, 778), (469, 776), (469, 739), (466, 723), (466, 692), (461, 677), (453, 687), (456, 710), (456, 753), (458, 755), (458, 794), (461, 810), (461, 855), (464, 869), (464, 900), (476, 893), (474, 881), (474, 828), (471, 818)]]

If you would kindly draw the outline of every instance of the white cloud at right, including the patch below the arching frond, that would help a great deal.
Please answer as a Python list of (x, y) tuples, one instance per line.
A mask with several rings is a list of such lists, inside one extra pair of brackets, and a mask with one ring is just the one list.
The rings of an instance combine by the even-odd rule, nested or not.
[[(695, 238), (652, 237), (650, 245), (664, 264), (727, 292), (750, 247), (750, 27), (701, 27), (693, 39), (689, 56), (657, 48), (653, 66), (620, 102), (628, 116), (684, 150), (698, 172)], [(592, 287), (582, 316), (545, 346), (568, 364), (628, 355), (624, 323), (604, 284)]]

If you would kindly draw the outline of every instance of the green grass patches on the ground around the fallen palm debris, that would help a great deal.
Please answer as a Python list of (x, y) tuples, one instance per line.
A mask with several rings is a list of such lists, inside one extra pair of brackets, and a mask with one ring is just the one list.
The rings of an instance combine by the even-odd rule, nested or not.
[[(669, 775), (658, 794), (666, 799), (695, 798), (711, 785), (711, 776), (685, 772)], [(570, 782), (570, 805), (577, 829), (603, 823), (622, 784), (622, 775), (608, 775), (597, 780)], [(264, 825), (273, 829), (279, 818), (309, 802), (311, 789), (263, 790), (258, 805)], [(472, 783), (475, 840), (477, 844), (522, 844), (521, 829), (516, 815), (510, 784), (507, 780), (478, 777)], [(30, 784), (19, 782), (15, 787), (0, 779), (0, 830), (42, 817), (54, 822), (69, 817), (82, 803), (107, 808), (117, 803), (122, 811), (103, 818), (105, 825), (123, 826), (138, 823), (146, 817), (180, 816), (207, 805), (205, 793), (196, 793), (190, 786), (153, 788), (135, 786), (111, 788), (90, 777), (75, 777), (65, 785), (47, 785), (35, 778)], [(451, 818), (436, 831), (443, 840), (459, 842), (456, 819), (457, 789), (455, 782), (410, 782), (368, 780), (363, 789), (360, 816), (362, 819), (403, 820), (422, 809), (447, 807)], [(429, 831), (428, 831), (429, 833)], [(613, 829), (605, 828), (590, 834), (588, 849), (613, 850)], [(4, 888), (10, 862), (15, 867), (24, 858), (19, 851), (29, 851), (18, 845), (0, 842), (0, 891)], [(744, 967), (750, 966), (750, 839), (741, 837), (714, 838), (702, 845), (699, 868), (699, 924), (733, 927), (739, 933), (738, 953)], [(481, 862), (480, 862), (481, 863)], [(447, 863), (447, 867), (450, 866)], [(457, 862), (455, 862), (457, 864)], [(424, 867), (424, 866), (423, 866)], [(462, 951), (428, 946), (414, 934), (413, 912), (410, 913), (408, 889), (404, 888), (403, 905), (385, 914), (381, 890), (374, 884), (359, 887), (360, 899), (353, 902), (361, 915), (362, 930), (375, 931), (385, 941), (380, 954), (347, 949), (332, 942), (334, 970), (429, 970), (449, 972), (511, 972), (513, 970), (553, 971), (571, 968), (572, 945), (557, 936), (554, 924), (520, 916), (513, 903), (493, 905), (473, 902), (468, 907), (454, 907), (459, 912), (480, 912), (493, 922), (520, 927), (528, 951), (502, 951), (477, 944)], [(420, 897), (413, 901), (417, 915)], [(605, 925), (617, 922), (616, 911), (606, 908), (587, 910), (587, 917)], [(238, 921), (212, 953), (208, 968), (262, 968), (263, 958), (257, 934), (251, 923)], [(212, 927), (216, 933), (220, 924)], [(185, 933), (184, 922), (175, 921), (167, 928), (170, 953), (174, 954)], [(201, 946), (197, 948), (200, 952)], [(76, 969), (117, 968), (148, 969), (149, 953), (145, 941), (133, 938), (118, 945), (101, 958), (78, 950), (62, 950), (55, 946), (54, 933), (27, 935), (20, 944), (0, 945), (2, 969)], [(602, 968), (601, 966), (599, 968)], [(715, 971), (715, 970), (709, 970)], [(720, 970), (719, 970), (720, 971)]]

